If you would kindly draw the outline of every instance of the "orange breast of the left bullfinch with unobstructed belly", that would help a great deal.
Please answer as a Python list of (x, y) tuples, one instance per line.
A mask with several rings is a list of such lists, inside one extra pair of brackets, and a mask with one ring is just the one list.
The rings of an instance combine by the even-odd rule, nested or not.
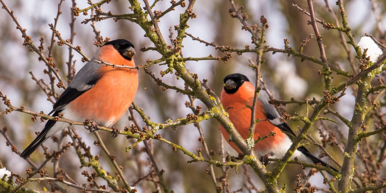
[[(134, 61), (127, 60), (113, 63), (134, 66)], [(134, 100), (138, 88), (138, 73), (136, 69), (112, 66), (103, 66), (98, 73), (101, 73), (102, 77), (95, 86), (69, 103), (69, 108), (84, 119), (89, 118), (98, 124), (111, 127), (124, 115)]]

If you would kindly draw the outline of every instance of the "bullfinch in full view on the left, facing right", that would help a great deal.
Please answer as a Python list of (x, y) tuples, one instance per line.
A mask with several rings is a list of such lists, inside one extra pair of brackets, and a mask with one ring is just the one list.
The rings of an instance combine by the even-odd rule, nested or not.
[[(105, 43), (74, 76), (49, 114), (58, 116), (63, 113), (69, 120), (83, 122), (90, 119), (98, 125), (111, 127), (134, 100), (138, 88), (138, 73), (136, 69), (113, 68), (94, 60), (134, 67), (134, 54), (134, 45), (125, 39)], [(68, 126), (65, 122), (48, 120), (21, 157), (29, 157), (48, 137)]]

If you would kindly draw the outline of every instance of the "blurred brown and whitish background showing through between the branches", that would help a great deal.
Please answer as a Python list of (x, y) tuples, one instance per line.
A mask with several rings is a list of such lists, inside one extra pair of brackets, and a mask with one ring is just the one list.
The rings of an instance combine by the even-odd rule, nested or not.
[[(14, 10), (14, 14), (22, 25), (27, 29), (27, 34), (32, 37), (35, 45), (39, 45), (39, 38), (44, 36), (46, 38), (45, 47), (49, 46), (52, 31), (48, 24), (54, 22), (56, 17), (59, 1), (52, 0), (5, 0), (8, 7)], [(143, 3), (142, 1), (140, 1)], [(335, 0), (328, 0), (331, 7), (334, 9), (335, 14), (339, 14), (339, 8), (335, 5)], [(76, 7), (86, 8), (89, 5), (87, 1), (76, 1)], [(152, 1), (150, 2), (152, 3)], [(310, 34), (313, 34), (312, 26), (307, 25), (307, 21), (310, 18), (296, 10), (291, 6), (291, 3), (297, 4), (301, 8), (308, 10), (307, 4), (303, 0), (235, 0), (236, 5), (243, 5), (245, 12), (249, 15), (249, 23), (257, 23), (260, 25), (260, 16), (264, 15), (269, 24), (269, 28), (266, 31), (267, 45), (275, 48), (284, 49), (283, 39), (288, 39), (294, 49), (300, 46), (300, 43), (308, 38)], [(334, 23), (330, 13), (325, 7), (325, 2), (322, 0), (314, 0), (314, 7), (316, 16), (320, 20), (325, 22)], [(131, 13), (129, 9), (129, 2), (112, 1), (109, 4), (102, 5), (102, 10), (108, 12), (110, 10), (114, 14)], [(71, 10), (72, 2), (66, 0), (63, 2), (62, 11), (60, 15), (57, 30), (61, 33), (63, 39), (68, 39), (70, 36), (69, 23), (71, 22)], [(165, 10), (170, 7), (168, 0), (157, 3), (153, 10)], [(251, 35), (249, 32), (241, 30), (242, 25), (239, 20), (230, 17), (228, 10), (230, 3), (224, 0), (211, 0), (211, 1), (196, 1), (193, 11), (196, 13), (197, 18), (189, 20), (190, 27), (186, 32), (192, 34), (195, 37), (208, 42), (215, 42), (217, 45), (232, 46), (232, 48), (244, 49), (245, 45), (251, 45)], [(176, 10), (165, 15), (160, 19), (159, 27), (163, 36), (167, 38), (169, 35), (169, 27), (177, 25), (179, 22), (179, 14), (181, 14), (185, 8), (176, 7)], [(371, 9), (371, 1), (369, 0), (347, 0), (345, 1), (345, 10), (348, 15), (348, 22), (352, 29), (353, 34), (356, 34), (356, 41), (364, 36), (364, 33), (374, 35), (374, 37), (384, 40), (384, 37), (379, 37), (376, 29), (376, 19), (374, 12)], [(386, 13), (386, 3), (384, 1), (378, 1), (377, 13), (380, 18), (384, 18)], [(76, 36), (74, 37), (73, 44), (81, 46), (82, 51), (92, 58), (93, 53), (97, 51), (98, 47), (93, 45), (95, 42), (95, 34), (93, 32), (90, 23), (81, 24), (90, 15), (85, 16), (80, 14), (76, 17), (74, 23), (74, 30)], [(49, 82), (49, 78), (43, 73), (46, 66), (43, 62), (38, 61), (38, 56), (35, 52), (29, 52), (28, 47), (22, 45), (23, 39), (21, 38), (20, 31), (15, 28), (15, 23), (5, 10), (0, 11), (1, 28), (0, 28), (0, 89), (3, 93), (8, 95), (12, 104), (16, 107), (24, 105), (26, 108), (35, 112), (49, 112), (52, 109), (52, 103), (47, 101), (45, 93), (36, 85), (36, 82), (31, 79), (28, 71), (32, 71), (37, 79), (43, 79)], [(381, 29), (384, 30), (386, 26), (386, 20), (381, 22)], [(135, 45), (137, 54), (135, 55), (135, 63), (137, 65), (145, 64), (146, 59), (158, 59), (160, 55), (155, 51), (141, 52), (141, 47), (153, 46), (152, 43), (144, 37), (144, 31), (136, 24), (128, 20), (118, 20), (114, 22), (112, 19), (102, 20), (97, 22), (97, 28), (101, 32), (101, 36), (110, 37), (111, 39), (127, 39)], [(174, 29), (174, 27), (173, 27)], [(347, 54), (339, 43), (339, 33), (337, 30), (326, 30), (319, 25), (319, 30), (323, 37), (323, 42), (327, 46), (327, 58), (329, 63), (340, 66), (340, 68), (352, 72), (347, 62)], [(173, 37), (176, 32), (173, 30)], [(251, 46), (252, 47), (252, 46)], [(351, 48), (350, 48), (351, 49)], [(353, 50), (353, 49), (352, 49)], [(45, 50), (46, 52), (47, 50)], [(205, 57), (209, 54), (216, 56), (225, 56), (224, 52), (219, 52), (213, 47), (205, 46), (198, 41), (193, 41), (190, 37), (186, 37), (184, 40), (184, 47), (182, 49), (184, 57)], [(315, 38), (311, 39), (305, 47), (305, 54), (309, 56), (315, 56), (319, 58), (320, 53)], [(355, 53), (355, 52), (354, 52)], [(78, 71), (85, 63), (81, 62), (81, 56), (73, 52), (75, 62), (75, 68)], [(68, 47), (58, 46), (54, 44), (53, 47), (54, 62), (61, 70), (62, 77), (66, 77), (66, 62), (68, 61)], [(203, 78), (208, 80), (208, 86), (220, 96), (222, 90), (223, 77), (230, 73), (243, 73), (249, 77), (251, 82), (254, 82), (254, 71), (248, 67), (248, 59), (256, 59), (255, 54), (245, 53), (242, 55), (232, 54), (232, 58), (227, 62), (222, 61), (188, 61), (187, 68), (191, 73), (198, 74), (200, 80)], [(266, 62), (261, 67), (261, 74), (264, 81), (270, 91), (273, 92), (274, 98), (279, 100), (289, 100), (294, 97), (297, 100), (304, 100), (306, 97), (312, 99), (313, 97), (318, 100), (323, 96), (322, 90), (324, 87), (322, 76), (318, 76), (318, 70), (322, 67), (318, 64), (308, 61), (301, 62), (300, 58), (288, 57), (287, 54), (271, 52), (265, 53), (263, 59)], [(355, 58), (354, 58), (355, 59)], [(355, 62), (357, 63), (357, 61)], [(149, 71), (156, 74), (156, 77), (161, 78), (159, 74), (160, 70), (165, 70), (165, 66), (151, 66)], [(143, 70), (139, 71), (140, 85), (134, 102), (144, 109), (146, 115), (151, 117), (154, 122), (164, 122), (167, 119), (180, 119), (186, 117), (188, 113), (191, 113), (190, 108), (185, 107), (185, 102), (188, 101), (186, 95), (176, 93), (174, 90), (162, 91), (162, 87), (159, 87), (154, 83), (151, 77), (144, 73)], [(169, 85), (176, 85), (180, 88), (184, 87), (183, 80), (176, 80), (174, 74), (167, 74), (162, 78), (163, 82)], [(252, 81), (253, 80), (253, 81)], [(333, 85), (339, 85), (343, 81), (347, 80), (342, 76), (337, 76), (334, 73)], [(63, 90), (57, 88), (58, 93)], [(262, 94), (265, 94), (263, 91)], [(352, 109), (354, 107), (354, 96), (352, 96), (351, 88), (348, 88), (346, 95), (341, 98), (341, 101), (332, 108), (341, 113), (346, 119), (351, 119)], [(196, 100), (196, 105), (205, 105)], [(0, 105), (0, 109), (3, 110), (5, 105)], [(300, 115), (305, 115), (305, 106), (287, 105), (285, 110), (288, 114), (293, 115), (295, 112)], [(136, 113), (137, 119), (142, 120)], [(129, 114), (122, 117), (122, 119), (115, 125), (116, 127), (123, 129), (125, 126), (130, 126), (130, 122), (127, 117)], [(344, 124), (326, 122), (330, 127), (339, 128), (343, 134), (347, 134), (347, 127)], [(143, 122), (140, 122), (141, 126), (145, 126)], [(218, 152), (220, 149), (221, 134), (218, 128), (218, 122), (214, 119), (201, 122), (205, 140), (207, 141), (208, 148), (214, 152)], [(302, 122), (288, 121), (288, 124), (297, 130), (298, 126), (302, 127)], [(8, 135), (14, 144), (23, 150), (27, 145), (35, 138), (34, 132), (40, 131), (44, 123), (31, 121), (31, 116), (20, 112), (12, 112), (8, 115), (0, 116), (0, 127), (8, 126)], [(318, 130), (316, 127), (320, 126), (317, 123), (310, 130), (310, 134), (317, 140), (320, 140)], [(91, 146), (91, 152), (93, 154), (100, 154), (101, 164), (103, 168), (112, 173), (115, 169), (112, 167), (108, 158), (102, 153), (99, 147), (93, 145), (95, 136), (88, 134), (87, 132), (78, 132), (83, 141), (88, 146)], [(190, 152), (196, 152), (197, 148), (202, 148), (201, 143), (198, 141), (199, 133), (193, 124), (177, 127), (176, 130), (171, 128), (160, 130), (159, 133), (166, 139), (176, 144), (182, 145)], [(135, 164), (135, 158), (133, 157), (133, 151), (125, 152), (125, 147), (130, 146), (134, 141), (128, 141), (125, 136), (119, 136), (115, 139), (111, 138), (111, 134), (107, 132), (100, 132), (102, 139), (105, 141), (107, 148), (110, 152), (113, 152), (116, 156), (116, 160), (119, 165), (124, 166), (124, 173), (127, 180), (131, 183), (135, 181), (139, 176), (147, 174), (149, 171), (149, 162), (145, 153), (137, 153), (135, 156), (144, 162), (143, 170), (138, 168)], [(345, 135), (344, 135), (345, 136)], [(63, 143), (69, 142), (71, 139), (65, 138)], [(225, 143), (225, 142), (224, 142)], [(10, 147), (5, 146), (5, 139), (0, 137), (0, 156), (2, 157), (3, 165), (10, 171), (20, 174), (20, 176), (26, 176), (25, 168), (29, 165), (19, 156), (14, 154)], [(49, 150), (56, 150), (56, 144), (53, 144), (52, 140), (47, 140), (44, 145), (49, 147)], [(233, 156), (237, 156), (235, 152), (227, 143), (224, 144), (225, 150)], [(143, 147), (143, 144), (139, 144), (138, 148)], [(308, 149), (317, 155), (320, 150), (317, 146), (309, 145)], [(327, 150), (335, 156), (335, 159), (342, 163), (343, 156), (334, 147), (327, 147)], [(32, 154), (32, 161), (41, 163), (44, 161), (42, 156), (42, 150), (38, 149)], [(215, 192), (213, 184), (210, 180), (210, 176), (205, 172), (208, 168), (207, 163), (186, 163), (190, 160), (190, 157), (184, 155), (181, 151), (172, 151), (171, 147), (167, 144), (154, 140), (154, 158), (160, 169), (164, 169), (164, 180), (170, 189), (174, 192)], [(216, 154), (213, 159), (220, 160), (220, 156)], [(328, 159), (323, 159), (327, 162)], [(16, 164), (15, 164), (16, 163)], [(331, 162), (329, 162), (331, 163)], [(271, 164), (272, 165), (272, 164)], [(269, 165), (268, 170), (272, 169)], [(76, 156), (74, 149), (70, 148), (63, 156), (61, 156), (59, 166), (65, 169), (66, 172), (75, 181), (80, 183), (87, 183), (86, 178), (81, 175), (83, 170), (89, 170), (91, 168), (79, 168), (79, 159)], [(332, 164), (332, 166), (335, 166)], [(48, 174), (52, 172), (52, 164), (47, 164)], [(214, 167), (216, 176), (222, 175), (220, 168)], [(249, 171), (249, 169), (247, 169)], [(257, 185), (261, 185), (259, 178), (254, 175), (253, 171), (249, 171), (252, 174), (252, 181)], [(244, 169), (239, 168), (238, 173), (235, 173), (234, 168), (229, 169), (229, 176), (227, 177), (231, 190), (238, 190), (245, 187), (244, 183), (247, 180), (243, 174)], [(288, 186), (287, 190), (292, 190), (296, 185), (296, 175), (303, 174), (300, 166), (289, 165), (279, 178), (279, 185), (284, 186), (284, 183)], [(317, 187), (326, 188), (323, 185), (322, 176), (316, 174), (312, 177), (311, 182)], [(103, 182), (101, 183), (103, 184)], [(28, 183), (29, 187), (38, 188), (41, 186), (38, 183)], [(139, 192), (151, 192), (154, 191), (154, 185), (150, 182), (145, 182), (136, 187)], [(328, 188), (327, 188), (328, 189)], [(244, 192), (247, 189), (244, 188)]]

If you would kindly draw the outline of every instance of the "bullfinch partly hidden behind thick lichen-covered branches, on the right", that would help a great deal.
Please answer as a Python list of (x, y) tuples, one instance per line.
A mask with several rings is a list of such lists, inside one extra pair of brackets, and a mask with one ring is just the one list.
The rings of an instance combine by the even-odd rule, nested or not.
[[(248, 106), (252, 106), (254, 93), (255, 87), (251, 84), (247, 76), (238, 73), (225, 76), (220, 101), (223, 107), (227, 109), (226, 112), (229, 113), (229, 119), (234, 124), (235, 129), (244, 139), (247, 139), (249, 134), (251, 108)], [(255, 114), (255, 119), (261, 120), (255, 126), (255, 140), (270, 134), (271, 131), (276, 133), (276, 135), (267, 137), (255, 144), (254, 150), (257, 156), (268, 155), (272, 158), (283, 157), (292, 145), (292, 137), (296, 137), (295, 133), (285, 122), (280, 121), (278, 111), (263, 95), (259, 95)], [(229, 134), (225, 129), (221, 125), (220, 128), (225, 139), (229, 139)], [(240, 152), (236, 144), (231, 141), (228, 141), (228, 143), (233, 149)], [(292, 158), (294, 157), (298, 157), (300, 161), (320, 163), (322, 166), (327, 166), (325, 162), (313, 156), (303, 146), (295, 151)], [(334, 168), (332, 169), (337, 171)]]

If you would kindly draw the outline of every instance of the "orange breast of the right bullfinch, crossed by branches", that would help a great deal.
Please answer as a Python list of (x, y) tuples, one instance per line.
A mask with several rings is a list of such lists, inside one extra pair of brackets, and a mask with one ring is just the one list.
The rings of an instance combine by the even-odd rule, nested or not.
[[(249, 83), (250, 84), (250, 83)], [(253, 98), (254, 98), (254, 88), (243, 88), (244, 85), (240, 86), (239, 90), (234, 94), (227, 94), (224, 90), (221, 94), (221, 102), (223, 107), (229, 108), (227, 113), (229, 113), (229, 119), (232, 121), (235, 129), (239, 132), (241, 137), (244, 139), (248, 138), (249, 134), (249, 126), (251, 124), (251, 109), (247, 107), (247, 105), (252, 107)], [(252, 90), (252, 92), (251, 92)], [(273, 131), (276, 133), (275, 136), (270, 136), (258, 143), (255, 144), (255, 151), (267, 151), (271, 148), (274, 148), (286, 137), (281, 130), (273, 125), (269, 120), (267, 120), (266, 116), (263, 112), (263, 106), (261, 102), (257, 103), (256, 108), (256, 118), (261, 121), (256, 124), (254, 139), (257, 140), (259, 137), (264, 137)], [(221, 132), (225, 139), (229, 139), (229, 134), (225, 131), (225, 129), (220, 125)], [(227, 140), (228, 141), (228, 140)], [(233, 142), (229, 142), (230, 146), (235, 149), (237, 152), (240, 152), (239, 148), (237, 148), (236, 144)]]

